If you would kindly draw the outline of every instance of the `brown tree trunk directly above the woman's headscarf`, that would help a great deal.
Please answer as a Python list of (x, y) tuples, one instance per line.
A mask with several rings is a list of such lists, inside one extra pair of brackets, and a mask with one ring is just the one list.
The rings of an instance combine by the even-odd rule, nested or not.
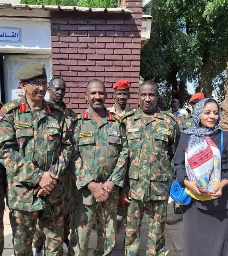
[(202, 68), (198, 70), (199, 79), (199, 91), (204, 93), (205, 98), (212, 97), (212, 78), (213, 74), (211, 72), (212, 67), (209, 62), (206, 62)]

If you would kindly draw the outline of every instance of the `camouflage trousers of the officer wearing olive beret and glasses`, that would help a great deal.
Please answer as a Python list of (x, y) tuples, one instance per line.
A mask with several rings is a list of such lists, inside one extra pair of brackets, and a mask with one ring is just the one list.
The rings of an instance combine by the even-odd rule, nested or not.
[(47, 256), (62, 256), (63, 244), (63, 209), (62, 204), (51, 204), (60, 237), (58, 236), (48, 206), (36, 212), (10, 209), (10, 224), (13, 231), (14, 256), (32, 256), (32, 240), (34, 238), (37, 220), (44, 230), (47, 239), (45, 252)]

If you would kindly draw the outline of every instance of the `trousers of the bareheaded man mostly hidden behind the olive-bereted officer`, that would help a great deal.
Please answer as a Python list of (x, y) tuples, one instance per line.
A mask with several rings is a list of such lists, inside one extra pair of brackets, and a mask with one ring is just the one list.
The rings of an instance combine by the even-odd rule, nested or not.
[[(64, 228), (63, 241), (65, 241), (68, 239), (69, 230), (70, 230), (70, 228), (69, 228), (70, 214), (69, 214), (69, 209), (68, 209), (70, 180), (69, 180), (68, 172), (64, 172), (63, 181), (64, 181), (64, 195), (65, 195), (65, 198), (63, 201), (63, 228)], [(33, 240), (34, 248), (44, 246), (44, 241), (45, 241), (44, 231), (42, 230), (42, 227), (38, 220), (37, 225), (36, 225), (36, 232), (35, 232), (34, 240)]]

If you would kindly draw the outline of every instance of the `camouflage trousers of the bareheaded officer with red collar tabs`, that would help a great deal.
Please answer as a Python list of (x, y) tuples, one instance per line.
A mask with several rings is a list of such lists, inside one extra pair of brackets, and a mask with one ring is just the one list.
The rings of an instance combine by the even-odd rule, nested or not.
[[(88, 255), (88, 244), (89, 236), (91, 234), (91, 229), (93, 221), (95, 220), (96, 214), (98, 223), (102, 223), (102, 228), (99, 228), (99, 233), (97, 234), (97, 249), (95, 250), (95, 255), (107, 255), (111, 256), (113, 247), (115, 246), (115, 240), (117, 235), (117, 202), (118, 199), (111, 200), (107, 199), (104, 202), (105, 208), (105, 227), (107, 234), (107, 250), (105, 249), (105, 239), (104, 239), (104, 228), (102, 212), (103, 207), (101, 203), (94, 203), (92, 205), (85, 205), (82, 203), (77, 203), (74, 206), (74, 214), (71, 219), (71, 238), (68, 250), (68, 256), (87, 256)], [(70, 206), (72, 209), (72, 206)], [(72, 210), (70, 210), (72, 213)]]

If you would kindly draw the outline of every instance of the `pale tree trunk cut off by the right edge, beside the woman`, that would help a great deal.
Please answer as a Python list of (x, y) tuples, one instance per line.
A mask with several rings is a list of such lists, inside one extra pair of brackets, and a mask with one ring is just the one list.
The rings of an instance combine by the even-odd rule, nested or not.
[(224, 84), (225, 88), (225, 99), (221, 103), (222, 108), (222, 122), (220, 125), (220, 128), (222, 130), (228, 131), (228, 62), (226, 62), (227, 68), (226, 68), (226, 80)]

